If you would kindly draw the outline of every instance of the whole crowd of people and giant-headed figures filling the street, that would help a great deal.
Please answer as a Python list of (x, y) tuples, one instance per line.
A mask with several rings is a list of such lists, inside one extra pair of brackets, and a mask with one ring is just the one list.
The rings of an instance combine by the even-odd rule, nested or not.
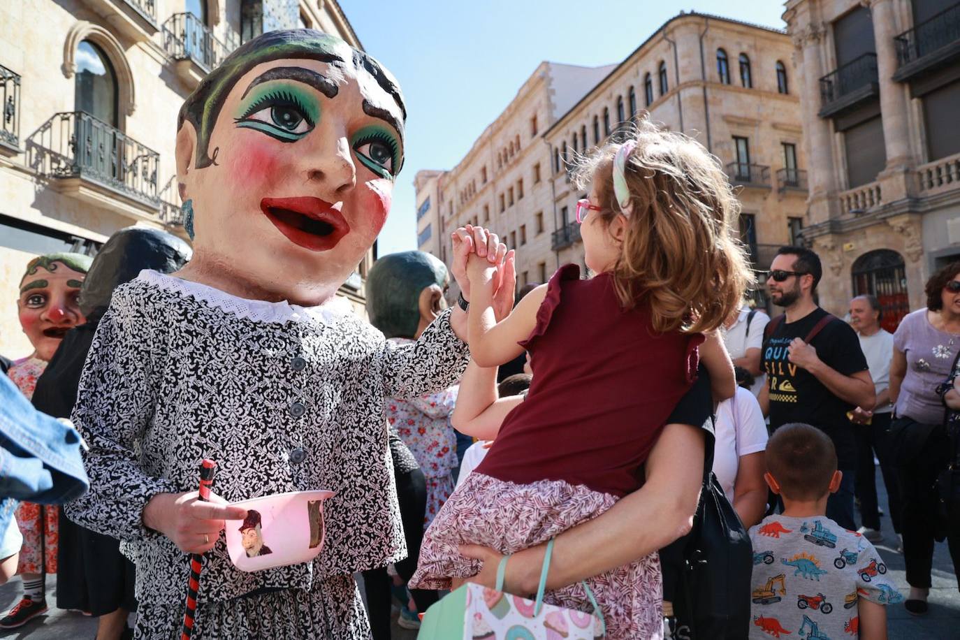
[[(926, 613), (936, 540), (960, 568), (960, 263), (891, 336), (876, 297), (849, 321), (820, 308), (819, 256), (783, 247), (759, 283), (771, 319), (744, 302), (756, 282), (722, 167), (641, 121), (577, 171), (589, 277), (565, 266), (515, 295), (514, 251), (468, 225), (449, 269), (380, 258), (368, 323), (333, 294), (389, 210), (405, 117), (366, 54), (259, 36), (180, 111), (192, 249), (132, 228), (92, 264), (30, 262), (35, 352), (0, 385), (19, 464), (0, 566), (23, 592), (0, 628), (46, 611), (57, 573), (57, 604), (97, 616), (100, 640), (384, 640), (393, 601), (418, 628), (467, 581), (540, 591), (613, 640), (885, 638), (904, 598), (874, 547), (875, 456), (903, 605)], [(37, 431), (48, 448), (24, 444)], [(85, 473), (69, 464), (82, 441)], [(239, 570), (225, 527), (266, 529), (232, 503), (311, 489), (333, 492), (320, 555)], [(205, 559), (186, 625), (190, 554)], [(472, 637), (492, 637), (481, 623)]]

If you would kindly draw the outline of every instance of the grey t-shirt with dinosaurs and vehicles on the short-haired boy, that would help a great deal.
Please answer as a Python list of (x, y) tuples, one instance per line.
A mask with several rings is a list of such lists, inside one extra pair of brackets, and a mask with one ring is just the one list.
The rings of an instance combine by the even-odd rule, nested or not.
[(750, 637), (855, 638), (857, 603), (899, 603), (874, 545), (827, 516), (771, 515), (754, 544)]

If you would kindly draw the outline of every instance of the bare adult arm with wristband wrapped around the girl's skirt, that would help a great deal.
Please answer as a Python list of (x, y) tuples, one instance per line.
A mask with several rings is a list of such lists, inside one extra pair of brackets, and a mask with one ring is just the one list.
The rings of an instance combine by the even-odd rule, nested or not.
[[(688, 533), (700, 499), (704, 431), (668, 424), (646, 462), (646, 484), (610, 510), (557, 536), (546, 588), (558, 589), (645, 557)], [(504, 589), (537, 590), (544, 545), (516, 553), (507, 563)], [(470, 581), (493, 586), (501, 556), (492, 549), (465, 545), (461, 553), (483, 560)]]

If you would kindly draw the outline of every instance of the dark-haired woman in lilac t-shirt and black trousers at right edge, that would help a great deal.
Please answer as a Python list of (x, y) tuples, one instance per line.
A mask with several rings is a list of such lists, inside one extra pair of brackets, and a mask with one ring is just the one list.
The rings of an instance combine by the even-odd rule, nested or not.
[(904, 604), (915, 615), (927, 611), (933, 543), (946, 535), (954, 570), (960, 574), (960, 523), (945, 527), (934, 485), (949, 460), (944, 405), (937, 387), (960, 351), (960, 262), (926, 282), (926, 307), (900, 322), (890, 365), (890, 428), (898, 451), (903, 520), (903, 557), (910, 595)]

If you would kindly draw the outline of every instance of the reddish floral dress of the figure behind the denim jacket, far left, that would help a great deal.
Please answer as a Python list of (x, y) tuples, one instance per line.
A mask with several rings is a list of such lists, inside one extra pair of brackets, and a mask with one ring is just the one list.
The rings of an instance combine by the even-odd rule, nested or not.
[[(7, 373), (17, 389), (29, 400), (33, 398), (36, 381), (46, 367), (46, 361), (30, 356), (14, 362)], [(57, 508), (21, 502), (16, 509), (16, 524), (23, 534), (23, 547), (20, 549), (16, 572), (57, 573)]]

